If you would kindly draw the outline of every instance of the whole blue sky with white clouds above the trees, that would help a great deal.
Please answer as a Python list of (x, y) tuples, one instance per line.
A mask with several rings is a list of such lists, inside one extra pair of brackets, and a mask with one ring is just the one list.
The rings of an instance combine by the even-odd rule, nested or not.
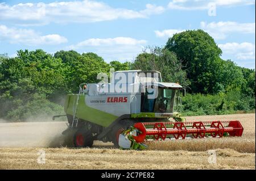
[(224, 60), (255, 69), (255, 0), (0, 1), (0, 54), (9, 56), (74, 49), (133, 61), (144, 47), (199, 28)]

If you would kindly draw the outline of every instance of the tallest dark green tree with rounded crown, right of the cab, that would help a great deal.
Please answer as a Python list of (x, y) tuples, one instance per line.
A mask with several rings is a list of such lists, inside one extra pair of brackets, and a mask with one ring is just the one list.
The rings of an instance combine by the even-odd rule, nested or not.
[(176, 53), (191, 81), (192, 92), (213, 93), (221, 49), (207, 32), (188, 30), (168, 39), (166, 48)]

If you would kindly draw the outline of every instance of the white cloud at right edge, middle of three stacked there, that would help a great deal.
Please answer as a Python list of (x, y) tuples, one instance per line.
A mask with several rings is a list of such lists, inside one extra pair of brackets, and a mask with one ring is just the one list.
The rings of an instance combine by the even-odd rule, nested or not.
[(200, 23), (201, 29), (208, 32), (214, 39), (225, 39), (229, 33), (254, 33), (255, 23), (237, 23), (237, 22), (212, 22)]

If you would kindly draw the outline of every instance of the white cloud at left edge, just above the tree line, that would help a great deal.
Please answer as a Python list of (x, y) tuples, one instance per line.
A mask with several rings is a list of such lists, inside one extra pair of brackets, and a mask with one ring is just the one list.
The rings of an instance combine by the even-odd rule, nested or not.
[(24, 45), (56, 45), (66, 43), (68, 40), (57, 34), (42, 36), (34, 30), (9, 28), (5, 25), (0, 25), (0, 41)]

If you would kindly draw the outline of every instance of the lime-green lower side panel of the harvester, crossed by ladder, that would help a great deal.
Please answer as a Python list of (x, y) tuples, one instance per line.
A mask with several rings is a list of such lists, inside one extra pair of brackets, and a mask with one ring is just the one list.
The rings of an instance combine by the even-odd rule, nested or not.
[[(64, 110), (67, 114), (73, 115), (76, 107), (76, 94), (67, 95)], [(90, 121), (92, 123), (101, 125), (103, 127), (108, 127), (118, 116), (115, 116), (111, 113), (107, 113), (95, 108), (86, 106), (85, 96), (80, 95), (79, 103), (77, 106), (76, 116), (80, 119)]]

